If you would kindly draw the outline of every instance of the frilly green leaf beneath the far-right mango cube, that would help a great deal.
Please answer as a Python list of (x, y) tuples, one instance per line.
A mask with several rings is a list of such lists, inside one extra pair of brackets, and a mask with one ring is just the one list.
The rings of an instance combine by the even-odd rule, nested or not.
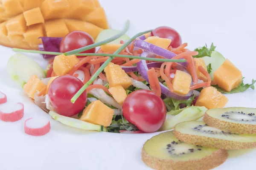
[(244, 85), (244, 77), (242, 79), (242, 82), (240, 83), (240, 85), (237, 88), (234, 88), (233, 90), (231, 90), (230, 92), (224, 91), (222, 88), (218, 87), (218, 85), (212, 85), (213, 87), (217, 88), (217, 90), (221, 93), (224, 94), (233, 94), (233, 93), (239, 93), (242, 91), (246, 91), (248, 88), (251, 88), (254, 90), (254, 84), (255, 84), (256, 80), (252, 80), (252, 84), (246, 84)]

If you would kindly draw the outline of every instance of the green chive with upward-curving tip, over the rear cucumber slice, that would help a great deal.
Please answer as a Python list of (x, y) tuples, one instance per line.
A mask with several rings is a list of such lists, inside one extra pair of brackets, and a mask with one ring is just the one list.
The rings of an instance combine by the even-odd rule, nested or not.
[(101, 42), (96, 42), (94, 44), (87, 45), (85, 47), (78, 48), (78, 49), (75, 49), (75, 50), (72, 50), (72, 51), (68, 51), (68, 52), (64, 53), (64, 55), (69, 56), (69, 55), (72, 55), (72, 54), (81, 53), (82, 51), (90, 50), (90, 49), (98, 47), (100, 45), (104, 45), (104, 44), (107, 44), (109, 42), (112, 42), (112, 41), (116, 40), (117, 38), (121, 37), (123, 34), (125, 34), (128, 31), (129, 25), (130, 25), (130, 21), (127, 20), (126, 23), (125, 23), (125, 28), (121, 32), (119, 32), (119, 34), (116, 34), (115, 36), (110, 37), (107, 40), (104, 40), (104, 41), (101, 41)]

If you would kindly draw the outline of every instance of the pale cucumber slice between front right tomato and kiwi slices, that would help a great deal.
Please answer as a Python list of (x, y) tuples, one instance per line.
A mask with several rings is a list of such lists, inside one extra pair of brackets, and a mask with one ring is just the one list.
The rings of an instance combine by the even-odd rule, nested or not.
[[(178, 113), (180, 111), (180, 113)], [(174, 126), (180, 122), (192, 121), (201, 118), (204, 113), (207, 111), (207, 108), (204, 106), (191, 106), (180, 109), (178, 111), (167, 112), (167, 115), (174, 115), (172, 112), (175, 112), (175, 116), (166, 119), (163, 126), (160, 128), (160, 131), (171, 130)]]

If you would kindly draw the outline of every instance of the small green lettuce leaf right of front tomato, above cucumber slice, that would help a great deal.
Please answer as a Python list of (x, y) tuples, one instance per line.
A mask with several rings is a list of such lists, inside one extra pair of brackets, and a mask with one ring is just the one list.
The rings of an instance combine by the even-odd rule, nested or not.
[(187, 100), (177, 100), (173, 98), (166, 98), (163, 101), (166, 104), (166, 108), (168, 111), (177, 110), (180, 108), (180, 104), (184, 103), (186, 106), (190, 106), (195, 99), (195, 95), (189, 97)]

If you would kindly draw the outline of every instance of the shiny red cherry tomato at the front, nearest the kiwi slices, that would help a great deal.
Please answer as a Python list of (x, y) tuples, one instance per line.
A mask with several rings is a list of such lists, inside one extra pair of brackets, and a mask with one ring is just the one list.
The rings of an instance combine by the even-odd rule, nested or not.
[(159, 96), (149, 90), (129, 94), (122, 105), (125, 119), (146, 133), (155, 132), (166, 119), (166, 106)]

